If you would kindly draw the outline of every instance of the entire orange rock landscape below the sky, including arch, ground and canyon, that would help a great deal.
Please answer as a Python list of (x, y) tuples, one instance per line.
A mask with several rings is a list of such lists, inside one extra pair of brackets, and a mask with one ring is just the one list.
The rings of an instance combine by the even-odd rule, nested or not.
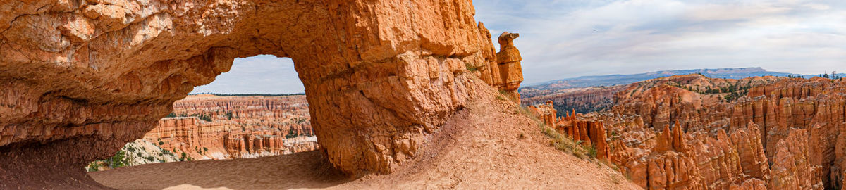
[[(0, 189), (846, 183), (843, 79), (688, 74), (521, 95), (519, 34), (492, 35), (470, 0), (0, 10)], [(305, 96), (188, 95), (257, 55), (290, 57)], [(85, 171), (116, 152), (170, 163)]]

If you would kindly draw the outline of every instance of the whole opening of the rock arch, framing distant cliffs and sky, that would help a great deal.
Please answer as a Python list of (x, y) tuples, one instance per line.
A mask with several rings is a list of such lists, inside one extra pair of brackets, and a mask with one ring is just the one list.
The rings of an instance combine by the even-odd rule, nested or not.
[(229, 72), (174, 102), (173, 111), (142, 138), (85, 169), (316, 150), (304, 90), (290, 58), (236, 58)]

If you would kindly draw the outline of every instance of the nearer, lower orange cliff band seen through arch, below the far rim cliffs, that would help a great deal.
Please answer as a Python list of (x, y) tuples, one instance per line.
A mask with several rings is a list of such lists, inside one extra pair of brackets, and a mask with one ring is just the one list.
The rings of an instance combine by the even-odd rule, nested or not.
[(159, 123), (144, 139), (160, 142), (158, 144), (162, 149), (172, 150), (177, 155), (185, 153), (193, 160), (253, 158), (318, 148), (315, 145), (316, 138), (309, 143), (302, 140), (297, 144), (288, 143), (288, 137), (293, 139), (308, 134), (294, 130), (293, 127), (268, 128), (233, 122), (205, 122), (197, 117), (163, 118)]

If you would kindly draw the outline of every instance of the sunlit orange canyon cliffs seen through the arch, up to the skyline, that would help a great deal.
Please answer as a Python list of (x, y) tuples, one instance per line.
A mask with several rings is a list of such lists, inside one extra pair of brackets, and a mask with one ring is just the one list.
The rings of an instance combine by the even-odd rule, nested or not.
[[(236, 159), (317, 149), (305, 95), (277, 97), (189, 95), (174, 115), (144, 135), (162, 149), (198, 159)], [(161, 143), (159, 143), (161, 142)]]

